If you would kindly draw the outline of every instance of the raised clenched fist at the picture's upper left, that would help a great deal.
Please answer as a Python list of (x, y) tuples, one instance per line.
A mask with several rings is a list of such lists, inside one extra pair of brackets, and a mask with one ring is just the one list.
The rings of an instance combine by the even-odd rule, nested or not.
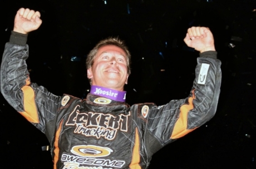
[(42, 24), (40, 16), (40, 12), (38, 11), (35, 12), (28, 8), (19, 9), (14, 19), (13, 31), (27, 34), (28, 32), (38, 29)]

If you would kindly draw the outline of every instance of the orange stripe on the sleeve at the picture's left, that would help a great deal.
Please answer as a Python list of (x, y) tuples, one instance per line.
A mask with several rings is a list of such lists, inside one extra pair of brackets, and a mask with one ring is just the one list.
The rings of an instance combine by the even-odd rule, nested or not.
[[(29, 81), (26, 81), (26, 84), (29, 84)], [(23, 104), (24, 112), (19, 112), (24, 116), (28, 121), (39, 123), (37, 108), (35, 103), (35, 93), (31, 86), (23, 86), (21, 88), (23, 91)]]

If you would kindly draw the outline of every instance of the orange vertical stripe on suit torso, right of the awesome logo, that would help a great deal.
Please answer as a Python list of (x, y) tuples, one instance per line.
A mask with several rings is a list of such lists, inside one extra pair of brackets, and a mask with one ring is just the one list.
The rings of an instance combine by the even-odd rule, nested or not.
[(140, 141), (139, 141), (138, 129), (136, 127), (134, 150), (132, 152), (132, 159), (129, 167), (131, 169), (141, 169), (139, 162), (140, 162)]

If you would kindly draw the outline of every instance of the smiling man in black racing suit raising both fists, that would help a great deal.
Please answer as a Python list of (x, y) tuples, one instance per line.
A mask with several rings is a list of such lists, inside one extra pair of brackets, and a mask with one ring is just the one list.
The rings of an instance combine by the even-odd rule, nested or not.
[(56, 96), (31, 83), (27, 33), (40, 13), (21, 8), (1, 65), (1, 92), (14, 109), (44, 132), (54, 168), (147, 168), (151, 156), (214, 116), (220, 93), (220, 61), (205, 27), (192, 27), (185, 43), (200, 52), (188, 98), (163, 106), (125, 103), (130, 53), (119, 39), (105, 39), (87, 57), (91, 91), (85, 100)]

